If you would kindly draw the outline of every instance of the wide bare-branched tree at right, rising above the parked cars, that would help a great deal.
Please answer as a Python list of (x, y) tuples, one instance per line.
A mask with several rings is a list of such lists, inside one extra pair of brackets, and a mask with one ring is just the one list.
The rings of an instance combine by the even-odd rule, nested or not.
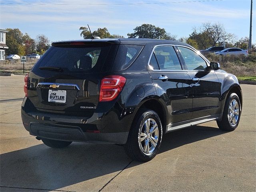
[(206, 22), (199, 28), (194, 27), (190, 39), (197, 42), (198, 48), (206, 49), (210, 46), (221, 46), (222, 44), (231, 41), (234, 34), (226, 32), (224, 26), (220, 23)]

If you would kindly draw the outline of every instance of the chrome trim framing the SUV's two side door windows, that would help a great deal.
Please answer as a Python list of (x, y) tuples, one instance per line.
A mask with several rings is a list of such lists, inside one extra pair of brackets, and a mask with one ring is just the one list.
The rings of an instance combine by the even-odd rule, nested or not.
[[(152, 68), (152, 66), (150, 66), (150, 60), (151, 60), (151, 58), (152, 58), (152, 55), (153, 55), (153, 53), (154, 53), (154, 50), (155, 50), (155, 48), (157, 48), (157, 47), (164, 47), (164, 46), (172, 46), (172, 47), (174, 47), (174, 46), (177, 46), (177, 47), (185, 47), (185, 48), (188, 48), (188, 49), (190, 49), (190, 50), (192, 50), (192, 51), (194, 51), (196, 54), (198, 54), (205, 62), (206, 62), (206, 65), (207, 66), (210, 66), (210, 61), (206, 58), (206, 57), (204, 57), (198, 50), (196, 50), (195, 48), (191, 48), (191, 47), (188, 47), (188, 46), (185, 46), (185, 45), (178, 45), (178, 44), (158, 44), (158, 45), (155, 45), (154, 47), (153, 47), (153, 49), (152, 49), (152, 51), (151, 51), (151, 54), (150, 54), (150, 57), (149, 57), (149, 60), (148, 60), (148, 67), (151, 69)], [(174, 49), (175, 50), (175, 49)], [(178, 49), (178, 51), (180, 51), (179, 49)], [(176, 52), (176, 50), (175, 50), (175, 52)], [(176, 52), (176, 54), (180, 54), (180, 53), (177, 53)], [(178, 57), (178, 55), (177, 55), (177, 57)], [(181, 63), (180, 63), (181, 64)], [(152, 71), (185, 71), (185, 70), (161, 70), (161, 69), (151, 69)]]

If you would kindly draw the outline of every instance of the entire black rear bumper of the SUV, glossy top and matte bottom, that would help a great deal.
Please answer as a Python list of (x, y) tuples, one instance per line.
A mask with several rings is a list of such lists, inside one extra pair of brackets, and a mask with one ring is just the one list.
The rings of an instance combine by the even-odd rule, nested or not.
[[(116, 105), (119, 106), (119, 105)], [(31, 135), (53, 140), (125, 144), (128, 138), (133, 109), (116, 109), (106, 113), (94, 113), (90, 117), (36, 112), (26, 106), (26, 97), (21, 107), (25, 129)]]

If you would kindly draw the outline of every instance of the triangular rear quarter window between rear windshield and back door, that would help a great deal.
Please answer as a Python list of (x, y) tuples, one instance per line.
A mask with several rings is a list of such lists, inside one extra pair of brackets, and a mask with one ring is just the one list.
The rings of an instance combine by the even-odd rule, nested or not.
[(112, 71), (124, 70), (136, 59), (143, 46), (120, 45), (112, 66)]

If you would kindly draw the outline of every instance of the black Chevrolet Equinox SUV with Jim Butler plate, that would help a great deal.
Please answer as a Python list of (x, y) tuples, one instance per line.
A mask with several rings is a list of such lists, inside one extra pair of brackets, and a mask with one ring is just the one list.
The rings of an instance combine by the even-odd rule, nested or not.
[(156, 156), (167, 132), (211, 120), (232, 131), (242, 110), (236, 76), (169, 40), (54, 42), (24, 92), (24, 127), (47, 146), (122, 144), (139, 161)]

